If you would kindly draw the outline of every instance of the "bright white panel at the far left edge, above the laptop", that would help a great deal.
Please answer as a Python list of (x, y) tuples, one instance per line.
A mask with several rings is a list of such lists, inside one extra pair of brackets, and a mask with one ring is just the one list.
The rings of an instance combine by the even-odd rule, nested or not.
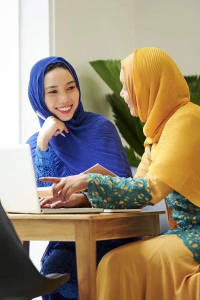
[(2, 146), (19, 143), (19, 24), (17, 0), (0, 0), (0, 28), (0, 145)]

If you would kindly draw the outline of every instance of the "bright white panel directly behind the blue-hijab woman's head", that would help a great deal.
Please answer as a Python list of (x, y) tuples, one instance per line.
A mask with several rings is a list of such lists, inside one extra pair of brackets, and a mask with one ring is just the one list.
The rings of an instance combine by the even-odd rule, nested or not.
[(39, 122), (27, 94), (30, 69), (49, 56), (48, 0), (20, 0), (20, 142), (38, 131)]

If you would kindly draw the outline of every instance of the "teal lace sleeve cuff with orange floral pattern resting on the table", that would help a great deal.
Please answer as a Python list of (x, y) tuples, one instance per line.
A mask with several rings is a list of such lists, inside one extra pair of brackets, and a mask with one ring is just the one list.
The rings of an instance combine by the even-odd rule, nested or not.
[(140, 208), (154, 205), (145, 178), (120, 178), (87, 173), (88, 200), (104, 209)]

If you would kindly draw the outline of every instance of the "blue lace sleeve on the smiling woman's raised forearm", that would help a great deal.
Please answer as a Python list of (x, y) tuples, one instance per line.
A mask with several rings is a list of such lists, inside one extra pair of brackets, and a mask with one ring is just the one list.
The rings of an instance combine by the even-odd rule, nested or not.
[(39, 177), (58, 177), (50, 146), (45, 151), (39, 151), (36, 146), (34, 170), (37, 187), (50, 186), (52, 184), (49, 182), (41, 182)]

